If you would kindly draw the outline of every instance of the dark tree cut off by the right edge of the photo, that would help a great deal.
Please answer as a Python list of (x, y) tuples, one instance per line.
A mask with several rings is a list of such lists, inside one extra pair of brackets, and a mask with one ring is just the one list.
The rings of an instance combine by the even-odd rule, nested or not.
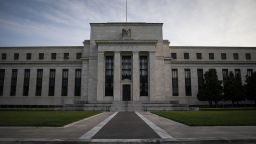
[(246, 98), (248, 100), (253, 100), (256, 105), (256, 72), (252, 73), (251, 76), (246, 76)]

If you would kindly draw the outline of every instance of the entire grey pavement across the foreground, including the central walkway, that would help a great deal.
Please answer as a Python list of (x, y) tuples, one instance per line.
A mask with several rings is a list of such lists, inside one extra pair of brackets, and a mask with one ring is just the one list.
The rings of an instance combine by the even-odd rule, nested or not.
[(190, 127), (149, 112), (104, 112), (65, 127), (0, 127), (0, 143), (17, 141), (256, 143), (256, 126)]

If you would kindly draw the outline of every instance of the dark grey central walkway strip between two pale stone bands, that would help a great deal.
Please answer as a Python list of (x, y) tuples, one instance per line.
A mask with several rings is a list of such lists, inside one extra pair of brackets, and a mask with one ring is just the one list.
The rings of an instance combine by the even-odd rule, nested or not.
[(134, 112), (120, 112), (93, 139), (149, 139), (160, 138)]

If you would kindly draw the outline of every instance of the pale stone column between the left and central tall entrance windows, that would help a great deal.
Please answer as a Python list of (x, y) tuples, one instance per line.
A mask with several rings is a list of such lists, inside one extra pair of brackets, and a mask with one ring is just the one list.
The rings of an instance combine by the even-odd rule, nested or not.
[(121, 87), (120, 87), (120, 76), (121, 76), (121, 68), (120, 68), (120, 52), (115, 51), (114, 55), (114, 101), (121, 100)]

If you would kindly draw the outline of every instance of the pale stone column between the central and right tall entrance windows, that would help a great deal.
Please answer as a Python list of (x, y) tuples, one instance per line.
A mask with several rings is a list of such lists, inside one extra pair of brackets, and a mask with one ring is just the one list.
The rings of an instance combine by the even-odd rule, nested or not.
[(139, 52), (133, 52), (132, 56), (132, 95), (133, 101), (140, 98), (140, 71), (139, 71)]

